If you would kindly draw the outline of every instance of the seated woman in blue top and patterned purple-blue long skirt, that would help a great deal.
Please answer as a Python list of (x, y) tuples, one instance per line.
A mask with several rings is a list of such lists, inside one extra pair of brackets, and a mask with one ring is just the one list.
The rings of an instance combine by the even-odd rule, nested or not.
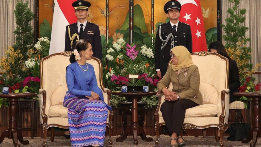
[(64, 107), (68, 109), (72, 146), (102, 146), (104, 143), (108, 110), (102, 90), (97, 86), (94, 68), (86, 60), (92, 59), (90, 40), (80, 40), (66, 68), (68, 91)]

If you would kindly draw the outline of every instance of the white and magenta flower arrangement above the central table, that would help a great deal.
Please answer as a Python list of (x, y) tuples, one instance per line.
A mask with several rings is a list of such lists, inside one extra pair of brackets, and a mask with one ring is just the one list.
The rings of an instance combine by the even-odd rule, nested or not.
[[(146, 45), (137, 47), (135, 44), (128, 43), (119, 38), (112, 47), (109, 46), (106, 58), (108, 59), (109, 71), (106, 78), (118, 85), (157, 85), (157, 80), (153, 80), (155, 72), (153, 63), (152, 49)], [(105, 67), (108, 69), (108, 67)]]

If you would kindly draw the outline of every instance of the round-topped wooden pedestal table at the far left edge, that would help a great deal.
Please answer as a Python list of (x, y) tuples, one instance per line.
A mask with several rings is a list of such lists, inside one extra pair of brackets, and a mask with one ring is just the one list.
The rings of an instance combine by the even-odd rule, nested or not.
[(15, 147), (19, 147), (17, 139), (22, 144), (29, 144), (28, 140), (23, 139), (23, 135), (21, 130), (17, 129), (17, 109), (18, 109), (18, 99), (26, 98), (26, 97), (34, 97), (37, 96), (36, 93), (9, 93), (7, 95), (0, 94), (1, 98), (8, 98), (9, 101), (9, 124), (8, 130), (3, 131), (0, 137), (0, 144), (3, 142), (4, 138), (7, 137), (9, 139), (13, 139), (13, 143)]

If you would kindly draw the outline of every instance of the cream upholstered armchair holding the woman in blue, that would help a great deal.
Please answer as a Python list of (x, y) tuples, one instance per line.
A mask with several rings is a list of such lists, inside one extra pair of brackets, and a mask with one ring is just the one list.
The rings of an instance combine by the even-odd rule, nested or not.
[[(54, 127), (68, 127), (68, 108), (63, 106), (64, 95), (67, 85), (65, 80), (66, 67), (70, 64), (69, 57), (73, 52), (61, 52), (49, 55), (41, 59), (40, 62), (40, 121), (42, 124), (44, 147), (47, 141), (47, 129), (51, 128), (51, 141), (54, 139)], [(98, 58), (92, 57), (87, 63), (93, 65), (98, 86), (103, 91), (104, 101), (110, 105), (111, 91), (104, 88), (102, 79), (102, 63)], [(113, 112), (108, 111), (106, 128), (108, 128), (109, 143), (112, 144), (111, 133), (113, 128)]]

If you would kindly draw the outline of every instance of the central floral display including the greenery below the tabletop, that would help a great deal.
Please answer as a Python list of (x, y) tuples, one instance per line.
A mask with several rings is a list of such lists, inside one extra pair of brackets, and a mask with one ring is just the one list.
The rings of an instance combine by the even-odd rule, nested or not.
[[(154, 53), (150, 47), (146, 44), (138, 46), (134, 43), (126, 43), (121, 37), (113, 44), (106, 41), (105, 46), (108, 48), (103, 69), (105, 77), (103, 81), (106, 87), (113, 91), (119, 91), (121, 85), (149, 85), (151, 90), (157, 87), (159, 79), (155, 77)], [(148, 107), (157, 105), (156, 99), (142, 98), (142, 101), (145, 100)], [(152, 100), (151, 103), (150, 100)], [(120, 101), (125, 101), (125, 98), (112, 95), (112, 106), (117, 106)]]

